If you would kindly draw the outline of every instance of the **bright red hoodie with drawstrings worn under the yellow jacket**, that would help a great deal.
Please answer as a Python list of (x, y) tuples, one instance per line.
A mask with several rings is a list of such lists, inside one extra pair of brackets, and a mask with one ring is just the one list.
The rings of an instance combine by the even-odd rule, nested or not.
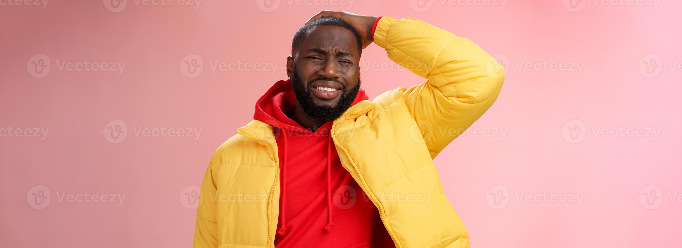
[[(365, 99), (360, 89), (352, 105)], [(372, 241), (392, 246), (376, 207), (341, 165), (329, 136), (331, 121), (315, 132), (301, 127), (289, 118), (295, 101), (291, 81), (280, 80), (258, 99), (254, 114), (273, 125), (277, 138), (280, 219), (275, 246), (370, 247)]]

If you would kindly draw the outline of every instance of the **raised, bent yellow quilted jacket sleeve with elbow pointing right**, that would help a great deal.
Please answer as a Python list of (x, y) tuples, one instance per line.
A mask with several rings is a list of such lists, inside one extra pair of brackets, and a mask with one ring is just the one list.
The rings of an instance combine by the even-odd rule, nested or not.
[(415, 18), (382, 17), (374, 43), (427, 79), (404, 90), (404, 100), (432, 158), (490, 108), (504, 82), (501, 65), (479, 46)]

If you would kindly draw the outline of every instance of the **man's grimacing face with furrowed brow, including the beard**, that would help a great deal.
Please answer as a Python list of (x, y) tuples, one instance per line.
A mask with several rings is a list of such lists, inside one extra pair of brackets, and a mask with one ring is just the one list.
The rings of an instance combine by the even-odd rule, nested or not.
[(318, 121), (333, 121), (351, 106), (360, 87), (355, 35), (337, 26), (308, 31), (287, 69), (296, 100)]

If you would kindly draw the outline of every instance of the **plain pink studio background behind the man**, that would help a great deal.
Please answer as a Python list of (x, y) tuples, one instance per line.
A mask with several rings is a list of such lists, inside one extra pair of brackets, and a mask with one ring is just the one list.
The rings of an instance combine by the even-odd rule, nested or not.
[[(505, 65), (497, 102), (435, 159), (472, 247), (679, 247), (682, 3), (568, 1), (128, 0), (115, 9), (109, 0), (3, 0), (0, 247), (190, 247), (196, 204), (186, 193), (216, 147), (250, 121), (256, 99), (286, 77), (293, 33), (320, 10), (419, 18)], [(48, 73), (32, 63), (46, 62), (31, 59), (41, 54)], [(201, 74), (181, 70), (192, 54)], [(125, 67), (59, 66), (86, 60)], [(216, 60), (233, 66), (213, 70)], [(423, 82), (374, 44), (362, 61), (370, 99)], [(121, 123), (122, 142), (108, 130)], [(140, 126), (202, 131), (196, 140), (136, 135)], [(49, 131), (19, 136), (10, 127)], [(125, 198), (59, 200), (86, 191)], [(566, 201), (523, 198), (544, 192)], [(49, 204), (32, 193), (47, 193)], [(574, 194), (582, 201), (567, 200)]]

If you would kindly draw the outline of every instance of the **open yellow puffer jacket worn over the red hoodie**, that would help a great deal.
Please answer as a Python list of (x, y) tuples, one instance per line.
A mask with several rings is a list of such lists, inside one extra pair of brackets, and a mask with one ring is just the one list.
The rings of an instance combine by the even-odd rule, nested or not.
[[(333, 121), (341, 163), (396, 247), (469, 247), (432, 159), (490, 108), (503, 69), (471, 41), (414, 18), (381, 18), (374, 43), (428, 80), (359, 102)], [(209, 162), (193, 247), (274, 247), (280, 166), (273, 127), (254, 120), (237, 133)]]

